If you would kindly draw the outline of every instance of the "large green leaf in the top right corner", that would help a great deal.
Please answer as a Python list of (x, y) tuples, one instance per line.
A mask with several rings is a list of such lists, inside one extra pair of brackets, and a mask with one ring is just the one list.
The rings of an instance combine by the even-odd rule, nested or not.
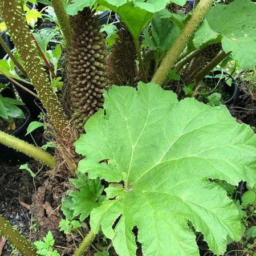
[(252, 67), (256, 64), (256, 3), (251, 0), (235, 0), (229, 5), (216, 5), (206, 15), (206, 23), (195, 34), (194, 42), (202, 44), (222, 36), (222, 47), (230, 52), (241, 67)]

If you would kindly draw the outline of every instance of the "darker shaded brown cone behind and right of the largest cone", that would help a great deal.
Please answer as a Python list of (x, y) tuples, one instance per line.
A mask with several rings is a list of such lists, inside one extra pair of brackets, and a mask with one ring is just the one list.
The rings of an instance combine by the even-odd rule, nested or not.
[(136, 58), (132, 35), (121, 23), (120, 29), (117, 31), (116, 43), (107, 58), (109, 83), (117, 86), (134, 86), (137, 75)]

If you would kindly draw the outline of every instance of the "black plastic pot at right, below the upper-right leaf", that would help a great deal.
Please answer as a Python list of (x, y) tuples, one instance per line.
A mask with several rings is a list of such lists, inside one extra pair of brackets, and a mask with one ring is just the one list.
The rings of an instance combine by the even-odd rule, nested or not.
[[(210, 75), (213, 75), (213, 76), (216, 76), (216, 75), (219, 75), (221, 74), (221, 71), (213, 71)], [(214, 83), (220, 83), (220, 86), (223, 86), (223, 89), (224, 91), (230, 95), (229, 99), (226, 99), (223, 101), (223, 104), (225, 105), (230, 105), (230, 104), (234, 104), (235, 101), (238, 99), (238, 94), (239, 94), (239, 88), (238, 88), (238, 85), (237, 83), (235, 82), (235, 80), (233, 78), (231, 78), (231, 75), (228, 74), (227, 72), (224, 72), (224, 74), (226, 75), (229, 75), (224, 78), (221, 78), (221, 81), (220, 81), (220, 78), (206, 78), (206, 79), (213, 79), (214, 80)], [(229, 84), (227, 84), (227, 79), (231, 78), (232, 79), (232, 83), (231, 83), (231, 86), (229, 86)]]

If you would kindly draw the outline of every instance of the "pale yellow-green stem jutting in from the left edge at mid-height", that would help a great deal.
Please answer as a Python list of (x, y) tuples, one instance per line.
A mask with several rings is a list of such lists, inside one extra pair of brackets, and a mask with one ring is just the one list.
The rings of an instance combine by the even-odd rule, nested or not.
[(51, 168), (56, 166), (54, 157), (43, 151), (43, 149), (37, 148), (2, 131), (0, 131), (0, 143), (22, 152), (27, 156), (33, 157), (34, 159), (42, 162), (42, 164), (46, 164)]

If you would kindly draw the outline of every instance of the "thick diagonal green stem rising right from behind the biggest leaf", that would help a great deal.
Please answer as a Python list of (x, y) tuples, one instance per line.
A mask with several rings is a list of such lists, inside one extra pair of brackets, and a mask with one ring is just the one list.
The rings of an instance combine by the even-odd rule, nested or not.
[(173, 46), (167, 52), (165, 58), (162, 60), (160, 67), (158, 68), (156, 74), (153, 76), (153, 83), (164, 83), (166, 77), (169, 74), (169, 71), (174, 67), (174, 64), (177, 62), (179, 56), (184, 51), (185, 47), (189, 43), (189, 40), (200, 26), (202, 20), (208, 13), (213, 3), (214, 0), (201, 0), (198, 3), (196, 9), (193, 11), (191, 18), (186, 23), (184, 30), (181, 32), (180, 36), (178, 36), (176, 42), (174, 42)]

